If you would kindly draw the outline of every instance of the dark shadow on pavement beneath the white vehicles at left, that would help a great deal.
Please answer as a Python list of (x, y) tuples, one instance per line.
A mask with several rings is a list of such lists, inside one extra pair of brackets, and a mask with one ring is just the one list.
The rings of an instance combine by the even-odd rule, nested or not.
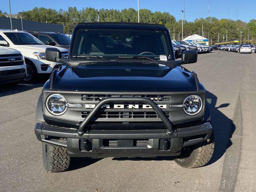
[(33, 83), (20, 82), (15, 86), (0, 85), (0, 97), (25, 92), (34, 88), (42, 87), (49, 77), (40, 77)]

